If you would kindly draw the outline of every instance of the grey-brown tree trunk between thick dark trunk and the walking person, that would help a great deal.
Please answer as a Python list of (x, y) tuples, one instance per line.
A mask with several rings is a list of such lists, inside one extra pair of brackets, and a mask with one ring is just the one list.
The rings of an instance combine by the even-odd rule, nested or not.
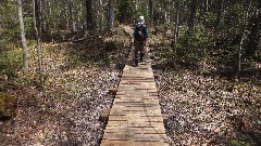
[(108, 30), (110, 34), (114, 31), (114, 13), (115, 13), (115, 1), (109, 0), (109, 19), (108, 19)]

